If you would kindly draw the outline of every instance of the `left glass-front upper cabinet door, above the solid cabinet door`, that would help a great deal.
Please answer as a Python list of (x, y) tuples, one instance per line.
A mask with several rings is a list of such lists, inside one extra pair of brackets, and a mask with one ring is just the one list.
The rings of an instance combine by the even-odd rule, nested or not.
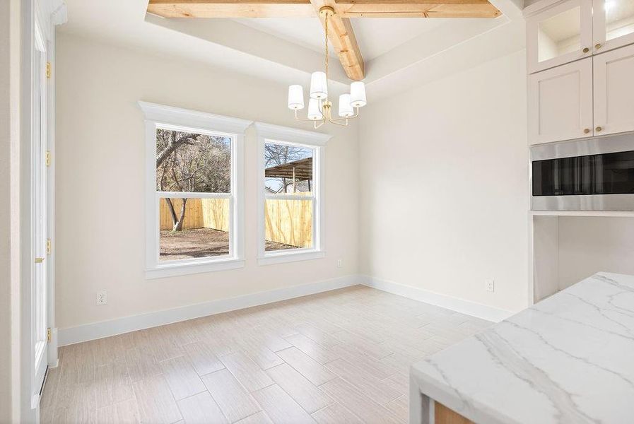
[(593, 52), (592, 0), (543, 0), (534, 7), (545, 7), (544, 2), (554, 6), (527, 17), (529, 73), (583, 59)]

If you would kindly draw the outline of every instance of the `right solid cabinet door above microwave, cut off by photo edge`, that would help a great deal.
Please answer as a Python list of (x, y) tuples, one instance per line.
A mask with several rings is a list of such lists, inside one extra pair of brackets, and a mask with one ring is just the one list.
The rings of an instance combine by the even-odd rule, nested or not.
[(594, 57), (594, 135), (634, 131), (634, 45)]

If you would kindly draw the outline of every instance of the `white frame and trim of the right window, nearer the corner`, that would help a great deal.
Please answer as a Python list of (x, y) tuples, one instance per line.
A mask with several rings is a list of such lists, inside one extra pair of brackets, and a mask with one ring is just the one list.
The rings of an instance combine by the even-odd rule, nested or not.
[[(304, 131), (301, 129), (288, 128), (256, 122), (257, 129), (257, 228), (258, 228), (258, 265), (280, 264), (283, 262), (305, 261), (309, 259), (319, 259), (326, 256), (325, 250), (325, 209), (324, 209), (324, 164), (326, 155), (326, 144), (331, 139), (331, 135), (322, 134), (315, 131)], [(304, 195), (275, 194), (266, 195), (264, 193), (264, 144), (277, 143), (288, 146), (310, 148), (314, 152), (313, 162), (313, 213), (312, 213), (312, 248), (278, 250), (266, 252), (265, 249), (265, 228), (264, 228), (264, 201), (266, 199), (309, 199)]]

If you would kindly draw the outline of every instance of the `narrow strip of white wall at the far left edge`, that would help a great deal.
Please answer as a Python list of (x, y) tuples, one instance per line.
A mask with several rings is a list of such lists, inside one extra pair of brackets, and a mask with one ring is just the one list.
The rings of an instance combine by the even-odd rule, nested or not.
[(20, 1), (0, 4), (0, 423), (20, 419)]

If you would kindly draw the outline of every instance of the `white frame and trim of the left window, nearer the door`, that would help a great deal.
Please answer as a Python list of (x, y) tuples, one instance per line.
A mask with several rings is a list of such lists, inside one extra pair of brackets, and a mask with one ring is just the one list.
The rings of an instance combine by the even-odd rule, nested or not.
[[(139, 101), (146, 122), (146, 278), (182, 276), (192, 273), (238, 269), (245, 266), (244, 237), (244, 151), (245, 131), (252, 121), (223, 117), (206, 112), (196, 112), (178, 107), (157, 105)], [(223, 257), (206, 257), (159, 261), (159, 201), (165, 192), (156, 190), (156, 129), (183, 129), (199, 134), (230, 136), (231, 141), (231, 192), (184, 193), (174, 192), (170, 197), (229, 198), (231, 220), (229, 223), (229, 254)], [(172, 196), (173, 194), (173, 196)]]

